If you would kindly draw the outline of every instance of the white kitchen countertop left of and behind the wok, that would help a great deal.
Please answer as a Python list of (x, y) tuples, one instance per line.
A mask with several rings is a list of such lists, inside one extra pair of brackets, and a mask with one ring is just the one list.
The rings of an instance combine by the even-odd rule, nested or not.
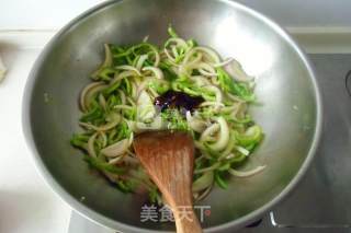
[[(326, 47), (329, 53), (350, 53), (349, 30), (327, 34), (325, 30), (291, 31), (309, 53), (326, 50)], [(54, 33), (0, 31), (0, 54), (9, 69), (0, 82), (0, 232), (3, 233), (66, 233), (68, 230), (71, 209), (36, 172), (21, 126), (25, 81)]]

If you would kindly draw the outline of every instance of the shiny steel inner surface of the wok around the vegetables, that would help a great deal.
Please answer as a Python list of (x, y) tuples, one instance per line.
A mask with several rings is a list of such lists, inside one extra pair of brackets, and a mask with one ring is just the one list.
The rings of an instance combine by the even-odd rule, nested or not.
[(250, 178), (233, 178), (227, 190), (215, 188), (199, 203), (211, 206), (203, 223), (207, 232), (233, 231), (260, 218), (297, 184), (321, 128), (319, 92), (306, 58), (276, 24), (240, 4), (129, 0), (82, 14), (53, 38), (32, 70), (24, 96), (25, 135), (45, 179), (77, 211), (124, 232), (173, 230), (171, 223), (140, 222), (147, 197), (120, 193), (69, 144), (79, 130), (78, 95), (103, 59), (103, 43), (132, 44), (146, 35), (161, 43), (169, 23), (180, 35), (235, 57), (257, 77), (262, 105), (250, 110), (265, 139), (245, 168), (268, 168)]

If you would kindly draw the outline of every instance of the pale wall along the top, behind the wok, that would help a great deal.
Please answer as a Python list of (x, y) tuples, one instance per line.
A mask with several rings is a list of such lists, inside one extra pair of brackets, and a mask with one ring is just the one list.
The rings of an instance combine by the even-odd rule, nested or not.
[[(103, 0), (0, 0), (0, 30), (58, 28)], [(283, 26), (351, 26), (350, 0), (238, 0)]]

